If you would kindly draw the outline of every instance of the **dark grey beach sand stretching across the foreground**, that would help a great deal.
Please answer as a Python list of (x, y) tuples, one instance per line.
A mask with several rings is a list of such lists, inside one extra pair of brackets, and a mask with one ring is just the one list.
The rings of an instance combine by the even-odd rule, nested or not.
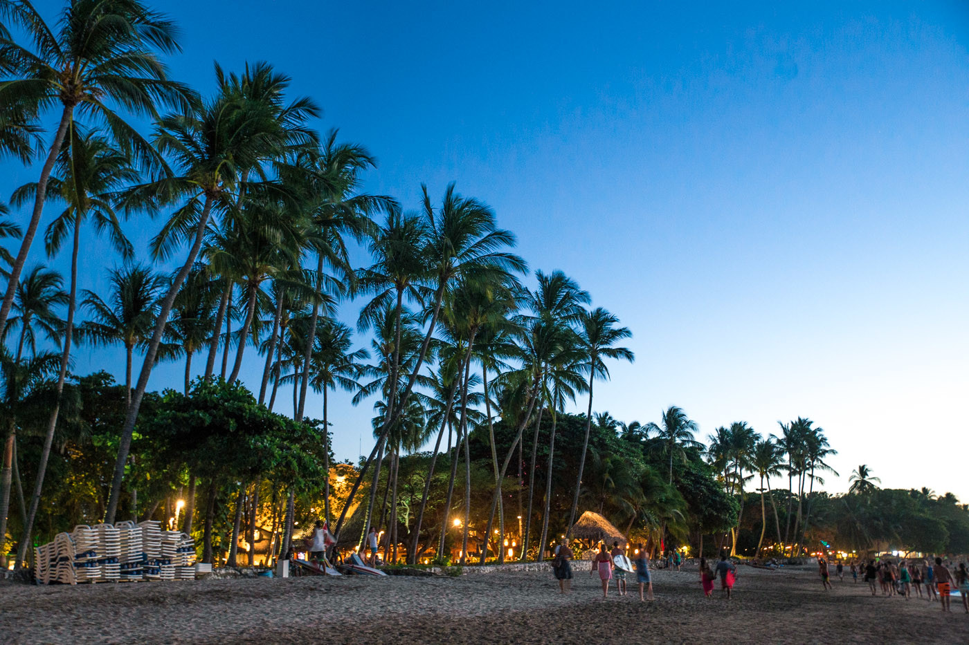
[(871, 598), (814, 568), (739, 568), (735, 598), (705, 599), (696, 569), (655, 571), (655, 600), (602, 599), (576, 563), (459, 577), (302, 577), (0, 587), (10, 643), (966, 643), (961, 602)]

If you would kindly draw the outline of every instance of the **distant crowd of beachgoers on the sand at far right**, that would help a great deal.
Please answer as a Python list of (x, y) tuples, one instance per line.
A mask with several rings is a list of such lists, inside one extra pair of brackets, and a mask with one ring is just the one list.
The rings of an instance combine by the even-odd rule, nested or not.
[[(867, 565), (863, 561), (852, 562), (850, 568), (856, 583), (859, 575), (868, 583), (872, 596), (878, 596), (879, 587), (882, 596), (900, 596), (904, 599), (911, 599), (914, 591), (919, 598), (929, 601), (938, 599), (943, 611), (952, 611), (951, 597), (953, 591), (957, 590), (963, 609), (969, 613), (969, 570), (965, 563), (960, 563), (954, 571), (942, 563), (942, 558), (936, 558), (934, 565), (925, 560), (869, 560)], [(844, 565), (838, 562), (835, 570), (838, 578), (844, 580)], [(824, 558), (818, 559), (818, 571), (824, 588), (831, 589), (828, 562)], [(924, 597), (922, 585), (925, 586)]]

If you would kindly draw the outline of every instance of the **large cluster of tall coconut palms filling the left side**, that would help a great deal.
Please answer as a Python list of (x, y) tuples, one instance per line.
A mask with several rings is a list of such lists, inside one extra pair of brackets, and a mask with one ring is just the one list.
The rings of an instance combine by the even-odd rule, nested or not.
[[(169, 77), (163, 57), (177, 50), (172, 21), (139, 0), (72, 0), (56, 23), (25, 0), (0, 0), (0, 153), (27, 165), (43, 159), (38, 181), (10, 200), (29, 209), (26, 226), (0, 223), (0, 235), (19, 242), (16, 255), (0, 257), (7, 278), (0, 536), (12, 482), (20, 491), (16, 431), (31, 410), (31, 418), (43, 416), (43, 427), (30, 427), (45, 444), (27, 503), (20, 501), (22, 562), (58, 421), (72, 405), (72, 351), (87, 343), (126, 354), (127, 412), (105, 521), (115, 520), (125, 495), (133, 431), (156, 363), (184, 360), (188, 391), (193, 375), (238, 380), (246, 357), (259, 353), (259, 403), (272, 409), (280, 388), (291, 392), (297, 420), (310, 387), (323, 393), (324, 420), (334, 388), (354, 391), (355, 403), (378, 399), (376, 442), (336, 519), (337, 535), (361, 485), (379, 481), (385, 465), (392, 478), (401, 451), (424, 445), (434, 430), (435, 454), (445, 434), (455, 456), (463, 445), (466, 555), (469, 432), (490, 429), (497, 415), (515, 418), (517, 444), (536, 409), (554, 419), (579, 392), (588, 393), (591, 422), (592, 387), (608, 378), (606, 359), (633, 358), (617, 346), (630, 331), (606, 310), (587, 309), (589, 294), (559, 271), (537, 272), (538, 287), (524, 287), (527, 265), (510, 250), (514, 234), (453, 184), (436, 203), (423, 187), (415, 212), (366, 193), (363, 174), (374, 158), (336, 132), (321, 137), (312, 127), (319, 108), (289, 96), (290, 78), (271, 65), (239, 73), (216, 65), (216, 88), (202, 97)], [(52, 114), (59, 118), (47, 130)], [(150, 133), (132, 117), (149, 120)], [(53, 216), (47, 204), (56, 204)], [(161, 220), (147, 254), (126, 236), (132, 218), (137, 226)], [(109, 272), (108, 292), (81, 288), (91, 279), (78, 268), (85, 229), (106, 236), (122, 261)], [(66, 286), (58, 272), (28, 266), (42, 230), (48, 257), (70, 253)], [(351, 265), (354, 245), (368, 249), (369, 266)], [(353, 331), (335, 319), (337, 306), (356, 296), (367, 297), (359, 330), (372, 334), (370, 351), (354, 349)], [(76, 320), (78, 309), (86, 320)], [(193, 369), (197, 354), (203, 369), (201, 357)], [(554, 433), (551, 441), (549, 466)], [(493, 433), (491, 445), (493, 518), (516, 445), (498, 454)], [(532, 466), (535, 458), (533, 445)], [(452, 459), (446, 518), (458, 466)], [(578, 471), (573, 517), (582, 465)], [(528, 487), (529, 506), (536, 485)], [(369, 487), (364, 534), (377, 488)], [(391, 490), (395, 496), (395, 480)], [(426, 502), (425, 491), (415, 536)], [(547, 523), (546, 503), (543, 540)]]

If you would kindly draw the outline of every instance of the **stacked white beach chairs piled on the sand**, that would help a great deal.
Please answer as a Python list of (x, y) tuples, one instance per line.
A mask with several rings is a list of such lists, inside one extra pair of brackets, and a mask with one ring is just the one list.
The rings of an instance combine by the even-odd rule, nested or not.
[(192, 537), (163, 531), (154, 520), (77, 526), (34, 554), (42, 584), (193, 580), (211, 571), (211, 565), (196, 564)]

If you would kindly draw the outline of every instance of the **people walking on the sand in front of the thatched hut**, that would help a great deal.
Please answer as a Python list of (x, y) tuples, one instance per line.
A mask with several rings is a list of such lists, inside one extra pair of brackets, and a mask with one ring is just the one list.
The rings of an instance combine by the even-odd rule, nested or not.
[[(624, 549), (619, 547), (619, 542), (612, 542), (612, 548), (610, 549), (606, 542), (603, 542), (599, 546), (599, 551), (596, 553), (595, 557), (592, 559), (592, 568), (590, 570), (591, 575), (599, 574), (599, 579), (603, 586), (603, 599), (609, 598), (609, 590), (611, 581), (615, 580), (616, 592), (619, 596), (625, 596), (627, 593), (627, 575), (636, 574), (636, 583), (640, 590), (640, 600), (652, 600), (653, 599), (653, 582), (652, 575), (649, 572), (649, 560), (646, 558), (646, 550), (643, 545), (637, 544), (635, 551), (636, 559), (629, 561), (625, 558), (626, 552)], [(616, 556), (622, 556), (629, 562), (632, 567), (624, 568), (616, 565)], [(566, 537), (562, 538), (562, 542), (555, 547), (555, 555), (552, 558), (552, 571), (555, 574), (555, 578), (558, 580), (559, 590), (562, 594), (568, 594), (572, 589), (572, 560), (575, 558), (575, 553), (569, 547), (569, 539)], [(620, 562), (622, 559), (620, 559)], [(673, 566), (677, 569), (682, 564), (680, 559), (678, 562), (674, 561)], [(700, 559), (700, 582), (703, 588), (703, 594), (707, 598), (712, 598), (713, 596), (713, 586), (716, 578), (720, 578), (721, 589), (723, 589), (724, 596), (727, 599), (731, 598), (734, 589), (734, 582), (736, 579), (736, 566), (734, 561), (729, 560), (727, 555), (724, 554), (720, 557), (720, 562), (717, 563), (715, 568), (711, 568), (707, 563), (705, 558)]]

